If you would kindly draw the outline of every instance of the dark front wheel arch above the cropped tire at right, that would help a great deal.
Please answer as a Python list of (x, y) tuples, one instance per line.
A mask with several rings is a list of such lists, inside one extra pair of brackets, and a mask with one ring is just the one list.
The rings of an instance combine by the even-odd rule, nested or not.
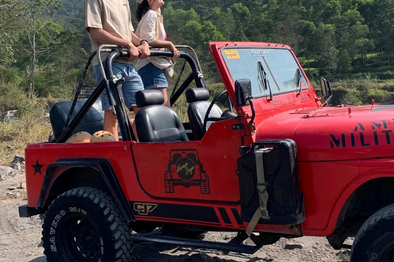
[(358, 180), (336, 220), (334, 231), (327, 236), (334, 249), (340, 249), (348, 236), (355, 236), (364, 222), (378, 210), (394, 204), (394, 174), (367, 176)]

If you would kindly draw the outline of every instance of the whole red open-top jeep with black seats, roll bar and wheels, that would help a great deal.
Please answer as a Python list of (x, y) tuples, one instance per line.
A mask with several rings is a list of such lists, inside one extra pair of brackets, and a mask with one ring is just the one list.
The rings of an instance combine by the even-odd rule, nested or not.
[[(21, 217), (45, 214), (48, 261), (129, 261), (134, 242), (253, 253), (307, 235), (326, 236), (334, 249), (356, 236), (353, 262), (394, 261), (394, 107), (328, 107), (329, 82), (321, 79), (324, 102), (285, 45), (212, 42), (210, 50), (226, 91), (208, 101), (198, 59), (181, 52), (192, 72), (171, 105), (186, 95), (189, 122), (161, 105), (160, 92), (139, 92), (139, 142), (112, 73), (124, 50), (104, 47), (106, 79), (87, 100), (54, 105), (54, 140), (26, 148), (28, 204), (19, 207)], [(104, 89), (122, 141), (65, 143), (103, 128), (95, 101)], [(221, 96), (225, 111), (215, 104)], [(156, 227), (173, 234), (149, 233)], [(238, 235), (216, 243), (176, 234), (199, 230)], [(254, 246), (242, 244), (248, 237)]]

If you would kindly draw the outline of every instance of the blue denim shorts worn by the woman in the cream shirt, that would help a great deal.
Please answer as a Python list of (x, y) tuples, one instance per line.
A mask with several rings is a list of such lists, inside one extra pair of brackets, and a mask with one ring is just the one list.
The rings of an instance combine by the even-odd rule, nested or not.
[(145, 67), (138, 70), (138, 74), (142, 78), (144, 89), (166, 88), (170, 90), (164, 69), (159, 69), (152, 63), (148, 63)]

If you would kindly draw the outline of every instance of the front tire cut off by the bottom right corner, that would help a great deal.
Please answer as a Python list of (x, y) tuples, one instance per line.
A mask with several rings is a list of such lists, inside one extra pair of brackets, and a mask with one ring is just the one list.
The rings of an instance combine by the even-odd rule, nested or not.
[(351, 262), (394, 260), (394, 205), (371, 215), (354, 238)]

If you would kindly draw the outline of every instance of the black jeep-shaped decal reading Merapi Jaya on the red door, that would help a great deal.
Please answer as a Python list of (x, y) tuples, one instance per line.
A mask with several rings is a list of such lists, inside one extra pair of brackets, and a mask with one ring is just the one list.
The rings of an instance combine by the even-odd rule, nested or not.
[(164, 174), (166, 193), (174, 193), (176, 186), (200, 187), (202, 194), (209, 194), (209, 177), (195, 149), (171, 150), (167, 172)]

